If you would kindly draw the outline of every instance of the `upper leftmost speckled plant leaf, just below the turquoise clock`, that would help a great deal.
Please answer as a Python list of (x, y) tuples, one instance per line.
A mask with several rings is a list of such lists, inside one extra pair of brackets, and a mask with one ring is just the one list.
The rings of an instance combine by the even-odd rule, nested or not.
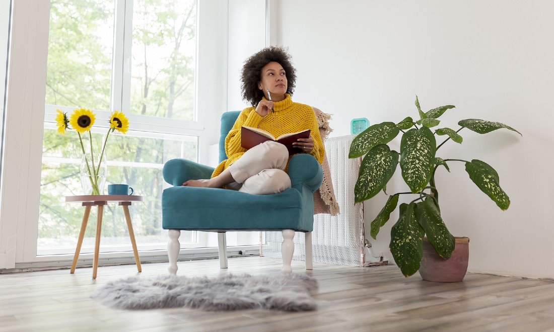
[(387, 144), (398, 135), (400, 129), (393, 122), (382, 122), (367, 128), (350, 144), (348, 158), (358, 158), (378, 144)]

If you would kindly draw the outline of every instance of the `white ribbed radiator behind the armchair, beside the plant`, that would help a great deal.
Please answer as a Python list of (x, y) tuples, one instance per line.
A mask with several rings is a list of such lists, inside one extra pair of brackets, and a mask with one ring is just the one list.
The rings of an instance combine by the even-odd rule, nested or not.
[[(361, 158), (349, 159), (350, 144), (355, 136), (330, 137), (325, 141), (331, 179), (340, 214), (314, 216), (312, 232), (314, 262), (365, 266), (363, 204), (354, 203), (354, 186)], [(265, 232), (260, 256), (281, 257), (281, 232)], [(264, 241), (265, 240), (265, 241)], [(293, 260), (305, 260), (304, 234), (294, 236)]]

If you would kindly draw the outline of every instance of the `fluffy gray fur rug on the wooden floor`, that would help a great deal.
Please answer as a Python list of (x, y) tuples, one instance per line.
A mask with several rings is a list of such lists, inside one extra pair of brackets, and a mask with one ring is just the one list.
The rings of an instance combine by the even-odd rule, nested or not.
[(274, 309), (315, 310), (310, 291), (317, 281), (305, 274), (250, 276), (224, 274), (217, 278), (184, 276), (131, 277), (111, 281), (91, 295), (112, 308), (197, 308), (211, 311)]

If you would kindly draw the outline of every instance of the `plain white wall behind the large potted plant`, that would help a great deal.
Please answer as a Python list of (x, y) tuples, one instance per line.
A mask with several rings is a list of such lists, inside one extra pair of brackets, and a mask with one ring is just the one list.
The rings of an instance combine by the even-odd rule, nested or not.
[[(332, 135), (349, 134), (351, 118), (417, 117), (416, 94), (424, 110), (456, 106), (441, 125), (458, 129), (463, 118), (482, 118), (518, 129), (523, 137), (464, 129), (462, 146), (449, 142), (438, 151), (493, 165), (511, 198), (501, 211), (463, 164), (451, 163), (451, 174), (437, 176), (443, 219), (455, 236), (470, 237), (469, 271), (554, 277), (554, 2), (274, 3), (273, 33), (289, 46), (299, 77), (294, 100), (332, 113)], [(404, 190), (398, 173), (389, 193)], [(367, 228), (385, 199), (366, 204)], [(387, 251), (397, 218), (372, 240), (377, 251)]]

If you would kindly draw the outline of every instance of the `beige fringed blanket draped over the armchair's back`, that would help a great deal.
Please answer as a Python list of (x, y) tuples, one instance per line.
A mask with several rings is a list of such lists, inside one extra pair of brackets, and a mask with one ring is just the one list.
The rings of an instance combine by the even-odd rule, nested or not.
[[(329, 127), (331, 115), (321, 112), (318, 108), (313, 108), (317, 124), (319, 125), (321, 141), (325, 142), (327, 136), (333, 131), (333, 129)], [(327, 154), (325, 154), (323, 158), (321, 167), (323, 168), (323, 183), (314, 193), (314, 214), (325, 213), (336, 216), (340, 213), (340, 209), (338, 207), (337, 199), (335, 198), (335, 190), (333, 189), (331, 173), (329, 171), (329, 162), (327, 162)]]

